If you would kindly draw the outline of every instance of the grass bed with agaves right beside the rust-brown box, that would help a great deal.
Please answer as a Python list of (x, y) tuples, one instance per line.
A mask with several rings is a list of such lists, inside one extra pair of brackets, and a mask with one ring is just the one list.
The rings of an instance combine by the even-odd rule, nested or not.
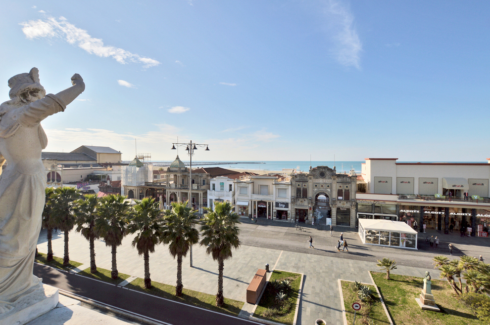
[(294, 313), (296, 312), (296, 301), (298, 299), (299, 285), (301, 284), (301, 275), (292, 272), (273, 271), (269, 282), (273, 280), (285, 280), (288, 279), (291, 282), (291, 294), (286, 300), (284, 306), (280, 309), (273, 308), (276, 305), (276, 294), (271, 288), (271, 285), (267, 284), (264, 294), (255, 309), (254, 317), (283, 323), (293, 324)]

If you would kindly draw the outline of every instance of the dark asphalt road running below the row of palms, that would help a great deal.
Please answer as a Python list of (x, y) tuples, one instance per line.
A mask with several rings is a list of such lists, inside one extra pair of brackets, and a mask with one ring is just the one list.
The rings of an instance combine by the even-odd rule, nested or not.
[(154, 297), (117, 285), (64, 272), (42, 264), (34, 264), (34, 275), (67, 292), (80, 295), (131, 313), (171, 325), (252, 325), (259, 324), (242, 318), (209, 311), (172, 300)]

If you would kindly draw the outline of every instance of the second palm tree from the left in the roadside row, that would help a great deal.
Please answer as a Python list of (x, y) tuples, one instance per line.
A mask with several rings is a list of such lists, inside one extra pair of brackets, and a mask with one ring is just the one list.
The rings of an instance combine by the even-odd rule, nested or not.
[(75, 226), (76, 201), (80, 198), (80, 192), (74, 187), (60, 187), (51, 194), (51, 225), (64, 232), (65, 249), (63, 266), (69, 264), (68, 234)]

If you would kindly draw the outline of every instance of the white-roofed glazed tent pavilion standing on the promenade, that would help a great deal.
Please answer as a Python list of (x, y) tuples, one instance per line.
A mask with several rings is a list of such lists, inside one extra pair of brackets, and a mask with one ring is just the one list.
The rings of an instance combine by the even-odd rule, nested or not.
[(363, 244), (417, 249), (417, 231), (401, 221), (359, 219)]

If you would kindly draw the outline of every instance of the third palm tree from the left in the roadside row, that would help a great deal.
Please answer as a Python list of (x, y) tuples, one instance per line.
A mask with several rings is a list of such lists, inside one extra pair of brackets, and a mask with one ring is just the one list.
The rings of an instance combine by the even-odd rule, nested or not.
[(95, 223), (97, 215), (98, 200), (97, 195), (88, 194), (83, 199), (78, 200), (78, 207), (75, 210), (77, 228), (76, 232), (81, 233), (86, 240), (89, 241), (90, 247), (90, 273), (97, 272), (95, 263), (95, 246), (94, 242), (98, 238), (95, 231)]

